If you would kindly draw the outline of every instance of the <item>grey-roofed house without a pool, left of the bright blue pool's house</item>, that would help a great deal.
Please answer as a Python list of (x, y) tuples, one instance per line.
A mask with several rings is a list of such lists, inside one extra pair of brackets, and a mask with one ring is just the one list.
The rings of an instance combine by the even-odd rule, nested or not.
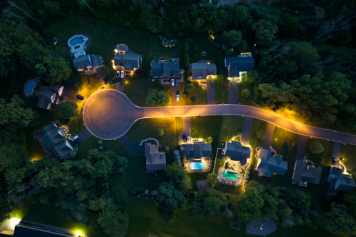
[(166, 168), (166, 152), (159, 152), (157, 145), (145, 143), (146, 170), (159, 171)]

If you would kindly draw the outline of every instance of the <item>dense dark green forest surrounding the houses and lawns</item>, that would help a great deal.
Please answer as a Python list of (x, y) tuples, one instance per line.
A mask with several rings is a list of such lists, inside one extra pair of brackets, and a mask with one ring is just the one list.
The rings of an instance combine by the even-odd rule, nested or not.
[[(121, 212), (129, 199), (121, 182), (127, 158), (93, 150), (80, 161), (27, 157), (23, 129), (36, 127), (41, 118), (14, 95), (16, 76), (27, 69), (53, 83), (65, 82), (71, 75), (70, 63), (50, 45), (55, 37), (53, 22), (79, 14), (112, 27), (141, 27), (182, 43), (190, 42), (194, 34), (208, 33), (217, 38), (216, 47), (225, 46), (227, 56), (256, 45), (255, 71), (243, 80), (253, 85), (257, 103), (276, 111), (293, 110), (315, 125), (355, 133), (355, 54), (340, 54), (336, 47), (355, 48), (356, 0), (274, 0), (271, 6), (313, 13), (315, 3), (329, 3), (330, 17), (282, 16), (281, 9), (249, 1), (219, 8), (193, 0), (1, 2), (7, 16), (0, 24), (0, 222), (22, 201), (55, 200), (64, 217), (106, 234), (124, 236), (129, 225), (127, 213)], [(335, 50), (318, 51), (318, 45)], [(189, 55), (185, 62), (189, 65)], [(329, 208), (320, 210), (311, 205), (306, 192), (257, 182), (249, 182), (238, 195), (213, 188), (190, 194), (192, 182), (182, 166), (169, 165), (165, 173), (169, 180), (157, 187), (157, 211), (166, 222), (174, 220), (176, 210), (186, 208), (190, 215), (224, 213), (234, 229), (250, 220), (273, 217), (283, 227), (299, 225), (336, 234), (356, 231), (355, 192), (326, 200)], [(121, 181), (112, 182), (113, 178)], [(209, 182), (213, 186), (216, 178)]]

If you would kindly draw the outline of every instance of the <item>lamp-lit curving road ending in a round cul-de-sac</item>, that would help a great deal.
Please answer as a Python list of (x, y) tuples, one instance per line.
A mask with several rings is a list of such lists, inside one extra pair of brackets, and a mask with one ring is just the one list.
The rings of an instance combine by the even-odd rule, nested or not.
[[(109, 108), (105, 107), (107, 105)], [(106, 109), (101, 108), (103, 106)], [(122, 92), (113, 89), (104, 89), (90, 96), (83, 110), (84, 122), (87, 129), (94, 136), (108, 140), (119, 138), (129, 130), (136, 120), (141, 118), (198, 115), (242, 115), (255, 117), (296, 134), (356, 145), (356, 136), (353, 134), (299, 124), (275, 113), (252, 106), (219, 104), (142, 108), (131, 103)]]

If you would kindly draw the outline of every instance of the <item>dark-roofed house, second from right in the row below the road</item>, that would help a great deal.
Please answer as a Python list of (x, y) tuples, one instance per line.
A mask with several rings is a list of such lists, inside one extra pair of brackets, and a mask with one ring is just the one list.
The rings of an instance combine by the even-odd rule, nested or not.
[(320, 182), (320, 175), (322, 169), (320, 167), (311, 166), (307, 164), (309, 161), (305, 158), (303, 160), (297, 160), (294, 164), (294, 172), (292, 175), (292, 184), (306, 187), (308, 182), (318, 185)]

